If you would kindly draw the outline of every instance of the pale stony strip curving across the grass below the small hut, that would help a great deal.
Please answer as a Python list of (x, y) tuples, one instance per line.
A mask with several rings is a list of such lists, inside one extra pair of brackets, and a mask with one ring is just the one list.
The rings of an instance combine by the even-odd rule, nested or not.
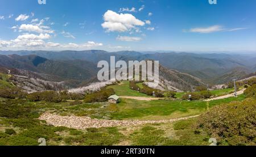
[(189, 116), (184, 118), (175, 118), (171, 120), (98, 120), (90, 117), (78, 117), (78, 116), (59, 116), (57, 114), (44, 113), (39, 117), (39, 120), (45, 120), (48, 124), (53, 126), (66, 126), (67, 128), (86, 129), (86, 128), (102, 128), (102, 127), (114, 127), (114, 126), (134, 126), (142, 124), (157, 124), (163, 122), (174, 122), (179, 120), (187, 120), (189, 118), (198, 117)]

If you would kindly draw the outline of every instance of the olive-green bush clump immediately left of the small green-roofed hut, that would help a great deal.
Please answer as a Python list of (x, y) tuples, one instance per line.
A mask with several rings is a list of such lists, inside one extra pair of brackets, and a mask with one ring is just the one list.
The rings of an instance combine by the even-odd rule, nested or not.
[(101, 90), (94, 94), (89, 94), (85, 96), (84, 102), (85, 103), (95, 103), (95, 102), (104, 102), (108, 101), (108, 97), (114, 95), (115, 92), (113, 88), (109, 88), (107, 90)]

